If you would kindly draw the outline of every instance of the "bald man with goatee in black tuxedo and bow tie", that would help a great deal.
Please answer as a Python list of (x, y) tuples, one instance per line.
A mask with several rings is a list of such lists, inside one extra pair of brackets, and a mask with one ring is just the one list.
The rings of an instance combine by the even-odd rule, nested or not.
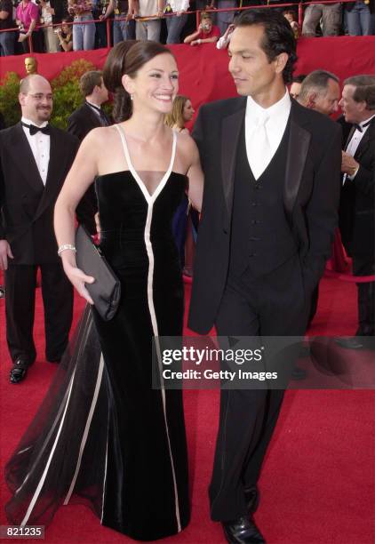
[(47, 360), (60, 362), (68, 344), (73, 291), (57, 255), (53, 208), (78, 147), (76, 138), (48, 124), (52, 90), (44, 77), (25, 77), (19, 100), (20, 123), (0, 132), (0, 268), (5, 270), (11, 383), (23, 380), (36, 359), (37, 268), (42, 274)]

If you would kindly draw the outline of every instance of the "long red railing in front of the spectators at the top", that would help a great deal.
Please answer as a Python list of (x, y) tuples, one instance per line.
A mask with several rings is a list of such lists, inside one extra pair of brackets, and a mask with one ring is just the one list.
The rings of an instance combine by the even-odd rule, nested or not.
[[(348, 4), (348, 3), (351, 3), (353, 2), (353, 0), (341, 0), (340, 4)], [(298, 13), (299, 13), (299, 20), (298, 20), (298, 23), (299, 23), (299, 28), (302, 28), (302, 23), (303, 23), (303, 8), (304, 7), (307, 7), (307, 5), (313, 5), (313, 4), (338, 4), (338, 1), (337, 0), (323, 0), (322, 2), (319, 2), (319, 0), (315, 0), (313, 2), (300, 2), (298, 4)], [(195, 13), (195, 16), (196, 16), (196, 28), (199, 27), (199, 23), (200, 23), (200, 14), (202, 12), (212, 12), (212, 13), (219, 13), (219, 12), (243, 12), (243, 11), (246, 11), (246, 10), (251, 10), (251, 9), (273, 9), (273, 8), (277, 8), (277, 9), (280, 9), (280, 8), (294, 8), (296, 6), (296, 4), (292, 4), (292, 3), (288, 3), (288, 2), (285, 2), (284, 4), (275, 4), (275, 5), (270, 5), (270, 4), (265, 4), (265, 5), (247, 5), (246, 7), (233, 7), (233, 8), (224, 8), (224, 9), (216, 9), (216, 8), (213, 8), (213, 9), (208, 9), (208, 10), (195, 10), (195, 11), (191, 11), (191, 12), (184, 12), (186, 13), (187, 15), (191, 15), (192, 13)], [(135, 17), (135, 18), (132, 18), (133, 20), (155, 20), (156, 18), (157, 19), (166, 19), (167, 17), (178, 17), (179, 15), (177, 15), (177, 13), (164, 13), (163, 17), (160, 18), (160, 17), (157, 17), (157, 15), (149, 15), (148, 17)], [(116, 21), (119, 21), (119, 20), (125, 20), (125, 21), (129, 21), (131, 20), (129, 18), (129, 16), (125, 16), (125, 17), (116, 17), (116, 19), (112, 19), (112, 18), (107, 18), (105, 20), (102, 20), (102, 19), (92, 19), (92, 20), (82, 20), (82, 21), (73, 21), (73, 22), (65, 22), (64, 21), (64, 25), (66, 26), (74, 26), (74, 25), (89, 25), (89, 24), (92, 24), (93, 22), (94, 23), (103, 23), (105, 22), (106, 23), (106, 27), (107, 27), (107, 47), (108, 49), (110, 49), (111, 45), (111, 24), (112, 22), (116, 20)], [(48, 25), (36, 25), (36, 30), (41, 30), (43, 28), (60, 28), (61, 27), (61, 23), (50, 23)], [(0, 33), (2, 32), (19, 32), (20, 29), (18, 27), (16, 28), (4, 28), (4, 29), (0, 29)], [(28, 49), (29, 49), (29, 52), (32, 53), (33, 52), (33, 44), (32, 44), (32, 37), (31, 35), (28, 36)]]

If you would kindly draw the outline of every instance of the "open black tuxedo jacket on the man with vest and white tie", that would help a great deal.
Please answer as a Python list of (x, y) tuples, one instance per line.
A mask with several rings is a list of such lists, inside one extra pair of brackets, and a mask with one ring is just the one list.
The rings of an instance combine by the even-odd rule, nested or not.
[[(193, 132), (203, 165), (204, 192), (188, 326), (203, 334), (215, 323), (227, 282), (235, 159), (245, 108), (245, 97), (207, 104), (200, 108)], [(286, 172), (281, 172), (280, 180), (307, 297), (331, 255), (340, 165), (339, 124), (292, 100)]]

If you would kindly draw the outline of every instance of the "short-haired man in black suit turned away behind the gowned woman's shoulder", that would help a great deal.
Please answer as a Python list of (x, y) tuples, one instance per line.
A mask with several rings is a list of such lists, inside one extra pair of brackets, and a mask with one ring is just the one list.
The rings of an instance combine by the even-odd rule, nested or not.
[[(79, 84), (84, 96), (84, 104), (68, 118), (68, 132), (82, 141), (92, 129), (98, 126), (108, 126), (111, 121), (101, 109), (101, 105), (108, 101), (108, 90), (103, 82), (102, 73), (99, 70), (86, 72), (81, 77)], [(92, 184), (76, 209), (77, 220), (91, 234), (96, 233), (94, 220), (96, 212), (98, 212), (98, 203)]]

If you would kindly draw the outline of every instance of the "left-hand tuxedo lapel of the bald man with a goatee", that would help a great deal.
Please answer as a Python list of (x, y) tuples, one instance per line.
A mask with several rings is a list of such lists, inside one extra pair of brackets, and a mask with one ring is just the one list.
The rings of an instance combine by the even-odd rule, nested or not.
[(29, 186), (36, 192), (43, 190), (43, 180), (40, 177), (36, 160), (20, 123), (14, 126), (12, 140), (9, 143), (9, 153)]

